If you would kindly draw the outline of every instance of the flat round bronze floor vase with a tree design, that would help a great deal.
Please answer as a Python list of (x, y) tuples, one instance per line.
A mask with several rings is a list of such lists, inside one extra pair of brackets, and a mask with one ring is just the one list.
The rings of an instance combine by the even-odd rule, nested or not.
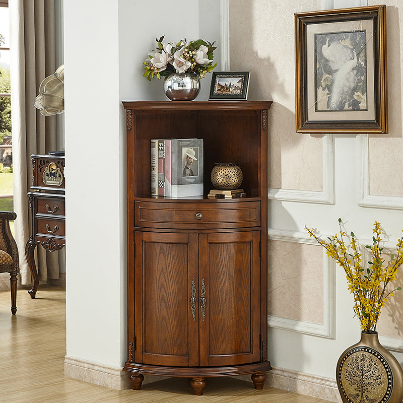
[(383, 348), (378, 333), (361, 333), (361, 340), (339, 358), (336, 380), (344, 403), (401, 403), (403, 371)]

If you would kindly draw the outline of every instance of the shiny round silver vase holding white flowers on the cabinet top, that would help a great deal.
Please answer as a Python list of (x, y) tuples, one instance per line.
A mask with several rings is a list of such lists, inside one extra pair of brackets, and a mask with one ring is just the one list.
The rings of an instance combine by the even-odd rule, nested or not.
[(171, 101), (192, 101), (200, 90), (195, 73), (171, 73), (164, 79), (164, 92)]

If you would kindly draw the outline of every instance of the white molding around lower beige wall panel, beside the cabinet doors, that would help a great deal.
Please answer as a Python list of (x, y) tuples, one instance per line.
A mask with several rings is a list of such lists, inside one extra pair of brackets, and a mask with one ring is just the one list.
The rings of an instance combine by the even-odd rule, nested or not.
[[(300, 231), (268, 230), (268, 240), (318, 245), (315, 239)], [(292, 330), (325, 339), (334, 339), (335, 334), (335, 264), (323, 250), (323, 324), (267, 315), (270, 327)]]

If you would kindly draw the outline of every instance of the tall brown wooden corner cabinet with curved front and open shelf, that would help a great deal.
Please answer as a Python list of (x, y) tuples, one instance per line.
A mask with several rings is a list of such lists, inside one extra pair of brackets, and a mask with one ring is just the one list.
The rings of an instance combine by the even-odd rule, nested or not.
[[(267, 360), (267, 113), (272, 102), (123, 102), (127, 125), (127, 344), (143, 374), (251, 374)], [(204, 197), (151, 196), (150, 141), (204, 141)], [(208, 198), (215, 163), (236, 163), (246, 197)]]

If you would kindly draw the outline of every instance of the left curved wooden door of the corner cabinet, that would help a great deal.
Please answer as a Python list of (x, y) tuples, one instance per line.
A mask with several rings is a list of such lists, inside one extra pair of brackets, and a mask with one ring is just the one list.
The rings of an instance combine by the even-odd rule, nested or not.
[(138, 363), (198, 365), (197, 241), (197, 234), (135, 233)]

